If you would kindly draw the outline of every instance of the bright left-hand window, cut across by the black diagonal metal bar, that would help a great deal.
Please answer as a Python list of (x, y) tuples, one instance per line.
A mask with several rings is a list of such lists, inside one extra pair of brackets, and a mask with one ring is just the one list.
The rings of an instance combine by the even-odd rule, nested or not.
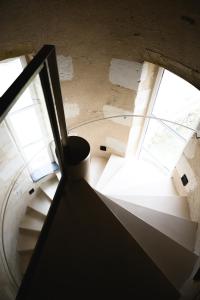
[[(0, 95), (22, 72), (22, 59), (14, 58), (0, 63)], [(6, 124), (32, 174), (54, 161), (50, 142), (50, 130), (45, 122), (42, 96), (38, 95), (36, 77), (6, 117)]]

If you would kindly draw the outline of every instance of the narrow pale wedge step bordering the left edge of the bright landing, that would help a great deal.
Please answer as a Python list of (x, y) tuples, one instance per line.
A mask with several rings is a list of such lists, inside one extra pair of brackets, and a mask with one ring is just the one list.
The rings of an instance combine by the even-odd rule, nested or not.
[(124, 162), (124, 158), (112, 154), (101, 174), (101, 177), (99, 178), (96, 184), (95, 189), (101, 192), (104, 186), (108, 184), (109, 180), (122, 167), (123, 162)]

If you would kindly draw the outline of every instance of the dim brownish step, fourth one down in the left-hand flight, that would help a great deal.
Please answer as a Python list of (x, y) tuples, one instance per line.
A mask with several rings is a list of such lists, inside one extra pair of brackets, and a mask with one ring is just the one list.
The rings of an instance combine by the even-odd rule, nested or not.
[(21, 231), (18, 237), (17, 251), (32, 251), (39, 237), (38, 232)]

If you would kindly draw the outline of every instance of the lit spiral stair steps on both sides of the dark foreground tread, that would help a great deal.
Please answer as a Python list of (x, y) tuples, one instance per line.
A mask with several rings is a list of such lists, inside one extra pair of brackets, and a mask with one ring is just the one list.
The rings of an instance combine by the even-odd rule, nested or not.
[[(96, 158), (97, 159), (97, 158)], [(91, 161), (91, 173), (95, 158)], [(99, 167), (93, 191), (117, 217), (169, 282), (181, 291), (198, 260), (198, 223), (189, 216), (187, 199), (178, 195), (172, 179), (147, 163), (111, 155)], [(29, 202), (20, 227), (18, 252), (22, 275), (29, 264), (60, 174), (43, 182)]]

